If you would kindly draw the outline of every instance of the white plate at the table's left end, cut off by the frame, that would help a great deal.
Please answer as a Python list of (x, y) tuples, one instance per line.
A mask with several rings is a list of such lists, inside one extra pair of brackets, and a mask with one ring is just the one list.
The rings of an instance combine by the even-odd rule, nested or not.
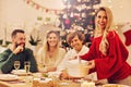
[(12, 74), (0, 74), (0, 80), (17, 80), (19, 76), (17, 75), (12, 75)]

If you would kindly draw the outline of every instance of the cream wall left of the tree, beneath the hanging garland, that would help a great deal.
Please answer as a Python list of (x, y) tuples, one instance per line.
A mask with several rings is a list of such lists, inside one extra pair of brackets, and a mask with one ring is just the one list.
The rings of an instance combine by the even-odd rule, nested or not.
[(51, 16), (56, 20), (55, 14), (44, 13), (25, 3), (24, 0), (0, 0), (0, 39), (3, 38), (7, 28), (7, 39), (10, 40), (10, 34), (14, 28), (24, 28), (29, 34), (36, 27), (37, 17)]

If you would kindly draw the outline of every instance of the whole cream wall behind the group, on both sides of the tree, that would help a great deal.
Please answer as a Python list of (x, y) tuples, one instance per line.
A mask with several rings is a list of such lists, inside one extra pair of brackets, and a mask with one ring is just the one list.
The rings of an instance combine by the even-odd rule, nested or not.
[[(41, 4), (49, 3), (46, 7), (51, 8), (57, 5), (58, 9), (58, 5), (60, 5), (60, 3), (57, 1), (40, 0)], [(115, 23), (119, 25), (127, 22), (131, 22), (130, 3), (131, 0), (102, 0), (102, 3), (99, 5), (110, 7), (114, 13)], [(4, 37), (4, 29), (7, 29), (8, 40), (10, 40), (10, 34), (14, 28), (24, 28), (27, 34), (31, 34), (31, 32), (35, 27), (35, 24), (37, 23), (37, 16), (43, 16), (43, 17), (51, 16), (52, 20), (56, 20), (57, 17), (52, 13), (48, 14), (34, 9), (33, 7), (26, 4), (25, 0), (0, 0), (0, 32), (1, 32), (0, 39)], [(118, 28), (118, 32), (120, 33), (120, 37), (122, 37), (122, 40), (124, 41), (120, 28)], [(130, 52), (129, 58), (131, 58), (130, 47), (128, 47)]]

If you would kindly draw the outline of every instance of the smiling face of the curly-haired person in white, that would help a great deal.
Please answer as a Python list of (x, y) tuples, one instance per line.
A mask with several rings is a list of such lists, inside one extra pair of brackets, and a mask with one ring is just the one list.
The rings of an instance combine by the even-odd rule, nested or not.
[(83, 46), (83, 41), (79, 39), (78, 36), (75, 36), (74, 38), (72, 38), (71, 40), (71, 47), (76, 50), (78, 52), (81, 51), (82, 46)]

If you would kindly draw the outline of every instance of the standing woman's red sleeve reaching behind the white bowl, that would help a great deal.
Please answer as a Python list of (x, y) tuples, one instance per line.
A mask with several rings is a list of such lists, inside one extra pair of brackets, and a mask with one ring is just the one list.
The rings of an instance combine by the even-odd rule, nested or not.
[(95, 54), (96, 53), (95, 46), (96, 46), (96, 41), (94, 39), (92, 42), (92, 46), (90, 47), (90, 50), (85, 54), (80, 55), (80, 58), (82, 60), (86, 60), (86, 61), (90, 61), (90, 60), (93, 60), (94, 58), (96, 58), (95, 57), (96, 55)]

